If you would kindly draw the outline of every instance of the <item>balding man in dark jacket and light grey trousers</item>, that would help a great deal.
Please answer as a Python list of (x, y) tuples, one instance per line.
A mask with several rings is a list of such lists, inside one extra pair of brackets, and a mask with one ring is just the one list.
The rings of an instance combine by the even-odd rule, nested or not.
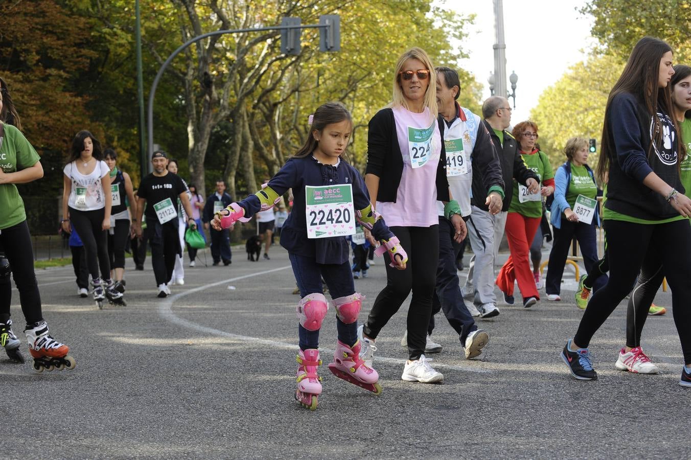
[(500, 213), (489, 213), (484, 203), (487, 190), (482, 171), (474, 169), (472, 211), (468, 220), (468, 238), (471, 240), (473, 257), (462, 291), (468, 310), (476, 316), (479, 314), (482, 318), (489, 318), (499, 314), (497, 297), (494, 294), (494, 261), (507, 223), (507, 211), (513, 195), (512, 181), (518, 180), (533, 192), (538, 189), (538, 176), (527, 168), (520, 156), (518, 142), (507, 131), (511, 124), (511, 107), (508, 99), (490, 97), (482, 104), (482, 116), (484, 126), (489, 131), (499, 154), (505, 184), (504, 200)]

